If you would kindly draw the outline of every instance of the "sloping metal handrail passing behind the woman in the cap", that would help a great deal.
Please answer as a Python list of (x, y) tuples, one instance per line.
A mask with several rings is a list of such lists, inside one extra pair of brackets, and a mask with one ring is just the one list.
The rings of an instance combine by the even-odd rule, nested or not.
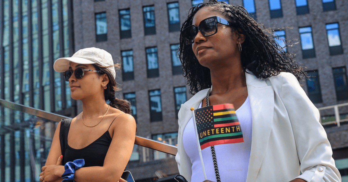
[[(21, 105), (21, 104), (17, 104), (14, 102), (9, 102), (9, 101), (5, 101), (0, 99), (0, 106), (3, 106), (5, 108), (9, 108), (9, 109), (13, 109), (16, 111), (21, 111), (27, 114), (31, 114), (33, 116), (37, 116), (40, 118), (44, 118), (44, 119), (48, 119), (51, 121), (56, 121), (59, 122), (62, 119), (66, 119), (69, 117), (66, 116), (62, 116), (59, 114), (55, 114), (55, 113), (50, 113), (50, 112), (46, 112), (40, 109), (35, 109), (35, 108), (31, 108), (25, 105)], [(141, 136), (135, 136), (135, 142), (134, 144), (143, 146), (143, 147), (147, 147), (150, 149), (154, 149), (154, 150), (158, 150), (160, 152), (165, 152), (171, 155), (176, 155), (177, 153), (177, 147), (174, 145), (169, 145), (166, 143), (161, 143), (161, 142), (157, 142), (155, 140), (150, 140)]]

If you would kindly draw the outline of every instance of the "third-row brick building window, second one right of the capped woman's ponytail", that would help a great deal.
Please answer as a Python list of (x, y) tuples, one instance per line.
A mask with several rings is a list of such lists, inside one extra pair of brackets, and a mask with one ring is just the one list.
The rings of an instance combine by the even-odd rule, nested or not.
[(161, 91), (150, 90), (150, 121), (162, 121)]

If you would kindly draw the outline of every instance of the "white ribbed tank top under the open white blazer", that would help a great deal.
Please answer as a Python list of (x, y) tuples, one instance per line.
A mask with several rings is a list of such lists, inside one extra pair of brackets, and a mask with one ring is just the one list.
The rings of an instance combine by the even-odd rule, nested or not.
[[(202, 103), (200, 103), (198, 108), (201, 107)], [(216, 161), (221, 182), (246, 181), (252, 134), (252, 117), (249, 97), (247, 97), (243, 105), (236, 110), (236, 115), (238, 117), (240, 127), (242, 128), (244, 142), (215, 145)], [(204, 181), (203, 169), (197, 149), (197, 138), (192, 118), (184, 129), (183, 145), (185, 152), (190, 157), (192, 163), (191, 182)], [(207, 179), (210, 181), (216, 181), (210, 147), (202, 150), (202, 157)]]

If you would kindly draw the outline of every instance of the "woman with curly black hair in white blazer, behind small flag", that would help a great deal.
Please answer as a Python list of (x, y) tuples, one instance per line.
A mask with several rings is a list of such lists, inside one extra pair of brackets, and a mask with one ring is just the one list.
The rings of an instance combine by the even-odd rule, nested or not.
[(191, 109), (225, 103), (234, 104), (244, 142), (201, 151), (207, 181), (341, 181), (319, 112), (298, 82), (303, 68), (272, 34), (243, 7), (210, 0), (190, 10), (179, 55), (194, 96), (179, 111), (175, 157), (189, 182), (204, 181)]

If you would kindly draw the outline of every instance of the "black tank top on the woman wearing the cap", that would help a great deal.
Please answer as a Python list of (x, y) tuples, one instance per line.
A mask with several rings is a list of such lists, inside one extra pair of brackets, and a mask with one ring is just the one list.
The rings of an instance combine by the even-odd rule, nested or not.
[[(115, 118), (116, 119), (116, 118)], [(114, 121), (114, 120), (113, 120)], [(112, 121), (112, 122), (113, 122)], [(111, 122), (111, 124), (112, 124)], [(103, 166), (106, 153), (111, 144), (111, 136), (108, 130), (97, 140), (87, 145), (82, 149), (74, 149), (68, 145), (68, 134), (70, 129), (71, 119), (62, 119), (59, 139), (61, 142), (61, 151), (63, 155), (63, 164), (72, 162), (75, 159), (84, 159), (84, 167)]]

